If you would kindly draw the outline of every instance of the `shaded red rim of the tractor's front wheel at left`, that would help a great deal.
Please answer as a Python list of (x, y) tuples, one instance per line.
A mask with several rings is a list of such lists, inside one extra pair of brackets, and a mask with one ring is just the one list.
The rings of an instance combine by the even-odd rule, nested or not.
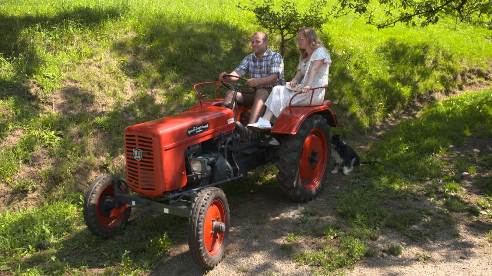
[[(120, 187), (120, 190), (124, 193), (123, 187)], [(118, 223), (123, 219), (126, 210), (126, 204), (123, 204), (120, 208), (108, 209), (107, 204), (111, 200), (114, 201), (113, 184), (106, 186), (101, 191), (97, 198), (96, 205), (97, 221), (101, 223), (101, 226), (108, 229), (118, 226)]]

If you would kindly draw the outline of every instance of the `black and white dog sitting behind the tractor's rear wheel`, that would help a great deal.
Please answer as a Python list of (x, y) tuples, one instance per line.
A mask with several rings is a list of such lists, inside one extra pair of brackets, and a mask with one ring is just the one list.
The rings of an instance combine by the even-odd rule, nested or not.
[(331, 139), (332, 160), (335, 163), (335, 169), (332, 173), (337, 173), (338, 169), (343, 168), (343, 174), (348, 175), (354, 169), (354, 166), (361, 165), (361, 158), (355, 150), (340, 139), (339, 134), (335, 134)]

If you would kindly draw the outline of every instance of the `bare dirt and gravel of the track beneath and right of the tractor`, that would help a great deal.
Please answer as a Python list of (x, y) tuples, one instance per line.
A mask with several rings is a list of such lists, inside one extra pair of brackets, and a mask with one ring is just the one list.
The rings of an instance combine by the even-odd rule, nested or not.
[[(488, 89), (490, 85), (472, 87), (470, 90)], [(459, 93), (459, 92), (457, 92)], [(454, 94), (456, 95), (456, 94)], [(454, 96), (451, 95), (451, 96)], [(449, 96), (449, 95), (448, 95)], [(444, 96), (438, 98), (441, 100)], [(372, 139), (377, 139), (383, 132), (391, 129), (401, 119), (418, 117), (422, 104), (416, 103), (397, 117), (386, 120), (373, 132), (347, 142), (360, 145), (358, 151), (367, 150), (365, 145)], [(462, 148), (457, 148), (463, 154), (467, 152), (492, 153), (492, 138), (485, 140), (469, 139)], [(311, 267), (301, 265), (292, 260), (292, 252), (285, 250), (289, 233), (300, 227), (296, 221), (303, 216), (302, 208), (322, 210), (321, 220), (337, 219), (337, 211), (333, 204), (335, 189), (349, 185), (347, 177), (342, 174), (331, 175), (329, 183), (323, 192), (306, 204), (292, 202), (285, 196), (273, 191), (259, 191), (240, 205), (231, 207), (231, 228), (226, 253), (222, 261), (210, 271), (204, 270), (194, 263), (187, 245), (183, 240), (174, 248), (169, 257), (161, 263), (150, 276), (308, 276), (312, 275)], [(469, 188), (465, 193), (473, 193), (469, 184), (473, 176), (464, 175), (463, 187)], [(467, 186), (468, 185), (468, 186)], [(423, 204), (426, 204), (423, 202)], [(257, 223), (259, 214), (267, 217), (266, 223)], [(466, 216), (460, 215), (457, 216)], [(457, 218), (458, 224), (449, 231), (442, 231), (434, 240), (405, 243), (407, 238), (397, 230), (381, 228), (379, 238), (372, 246), (378, 249), (374, 257), (364, 257), (356, 267), (345, 270), (346, 276), (490, 276), (492, 275), (492, 243), (487, 241), (484, 233), (490, 229), (490, 224), (476, 227), (469, 225), (466, 218)], [(412, 226), (418, 227), (418, 226)], [(480, 228), (480, 230), (479, 230)], [(460, 236), (456, 237), (456, 229)], [(401, 245), (400, 256), (383, 252), (387, 245)], [(301, 247), (302, 245), (296, 245)], [(427, 254), (430, 259), (419, 260), (418, 256)]]

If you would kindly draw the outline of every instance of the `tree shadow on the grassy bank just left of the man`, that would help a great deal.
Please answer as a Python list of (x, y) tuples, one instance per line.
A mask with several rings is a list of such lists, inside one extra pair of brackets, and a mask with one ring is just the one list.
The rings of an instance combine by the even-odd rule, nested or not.
[(251, 53), (245, 47), (250, 36), (224, 24), (163, 16), (120, 39), (113, 50), (123, 56), (119, 67), (129, 78), (143, 87), (163, 85), (183, 101), (193, 84), (218, 81), (221, 72), (234, 70)]

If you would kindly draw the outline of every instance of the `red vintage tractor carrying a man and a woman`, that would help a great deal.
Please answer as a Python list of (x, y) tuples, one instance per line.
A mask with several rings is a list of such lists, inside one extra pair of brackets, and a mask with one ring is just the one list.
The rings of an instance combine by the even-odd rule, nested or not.
[[(222, 84), (236, 94), (246, 85), (240, 79)], [(224, 255), (230, 227), (221, 185), (275, 163), (280, 189), (288, 197), (306, 202), (320, 193), (329, 171), (330, 126), (338, 125), (331, 101), (289, 106), (270, 133), (255, 132), (243, 142), (236, 121), (246, 125), (249, 110), (234, 105), (235, 100), (222, 107), (220, 84), (195, 84), (199, 102), (190, 110), (125, 129), (126, 180), (104, 174), (85, 195), (84, 221), (92, 233), (114, 235), (128, 221), (131, 207), (189, 218), (191, 255), (202, 267), (213, 268)], [(215, 99), (205, 99), (205, 90), (213, 91)], [(280, 146), (269, 144), (273, 137)]]

